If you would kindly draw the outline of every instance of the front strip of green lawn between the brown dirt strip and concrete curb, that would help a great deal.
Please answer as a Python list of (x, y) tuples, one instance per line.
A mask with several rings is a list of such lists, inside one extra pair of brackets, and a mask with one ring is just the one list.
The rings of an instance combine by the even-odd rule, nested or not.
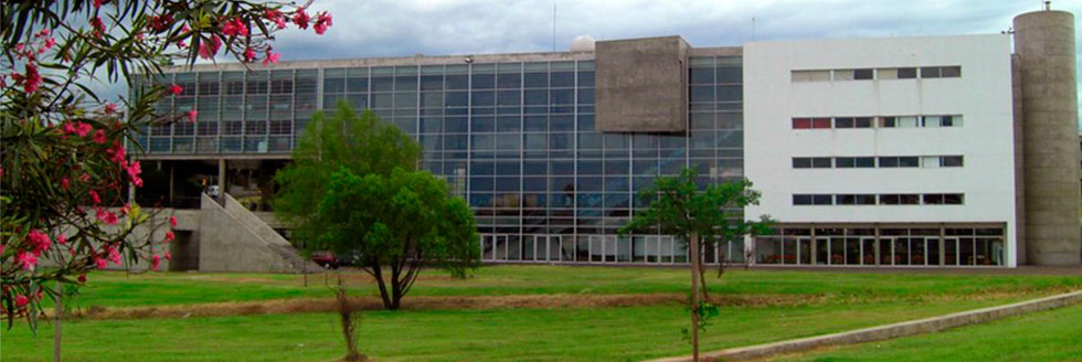
[[(837, 332), (996, 301), (722, 308), (704, 350)], [(332, 361), (343, 354), (337, 316), (266, 315), (77, 321), (64, 324), (65, 361)], [(369, 311), (362, 351), (380, 361), (625, 361), (686, 354), (676, 306)], [(52, 331), (0, 332), (3, 361), (51, 356)]]

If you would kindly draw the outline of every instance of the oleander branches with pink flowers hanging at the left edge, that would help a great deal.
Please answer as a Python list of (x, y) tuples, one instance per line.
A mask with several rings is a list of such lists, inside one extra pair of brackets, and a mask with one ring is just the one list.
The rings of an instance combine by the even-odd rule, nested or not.
[[(153, 84), (161, 66), (224, 53), (242, 62), (277, 63), (269, 42), (287, 21), (317, 33), (306, 3), (224, 0), (15, 1), (0, 7), (0, 313), (36, 326), (41, 301), (62, 290), (51, 281), (85, 283), (85, 274), (121, 255), (157, 268), (168, 243), (137, 235), (151, 220), (126, 202), (140, 187), (129, 159), (132, 134), (194, 121), (195, 110), (159, 114), (155, 104), (182, 92)], [(92, 85), (124, 82), (130, 96), (102, 99)], [(43, 268), (41, 260), (51, 262)], [(57, 355), (59, 358), (59, 355)]]

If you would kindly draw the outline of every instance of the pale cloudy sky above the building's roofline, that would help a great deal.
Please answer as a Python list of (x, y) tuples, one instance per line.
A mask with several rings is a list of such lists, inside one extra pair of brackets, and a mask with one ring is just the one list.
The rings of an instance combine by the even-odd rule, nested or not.
[[(1054, 0), (1051, 7), (1082, 15), (1082, 0)], [(283, 61), (303, 61), (543, 52), (553, 45), (566, 51), (577, 35), (681, 35), (692, 46), (726, 46), (752, 40), (988, 34), (1041, 8), (1041, 0), (316, 0), (310, 11), (330, 11), (330, 30), (316, 35), (291, 26), (278, 33), (274, 47)], [(112, 88), (106, 93), (123, 92), (103, 86)]]

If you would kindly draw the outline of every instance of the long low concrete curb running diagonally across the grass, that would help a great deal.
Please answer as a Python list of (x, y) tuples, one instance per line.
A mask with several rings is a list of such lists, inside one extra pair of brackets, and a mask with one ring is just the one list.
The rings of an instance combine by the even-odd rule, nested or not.
[[(1006, 306), (956, 312), (940, 317), (911, 320), (887, 326), (858, 329), (825, 336), (807, 337), (766, 344), (732, 348), (700, 355), (702, 361), (734, 361), (807, 351), (816, 348), (879, 341), (905, 336), (931, 333), (956, 327), (983, 323), (1000, 318), (1054, 309), (1082, 302), (1082, 290), (1020, 301)], [(691, 361), (691, 355), (651, 360), (650, 362)]]

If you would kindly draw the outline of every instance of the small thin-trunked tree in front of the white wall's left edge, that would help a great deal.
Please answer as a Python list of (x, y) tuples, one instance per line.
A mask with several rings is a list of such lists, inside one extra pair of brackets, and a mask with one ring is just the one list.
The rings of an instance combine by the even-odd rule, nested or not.
[(738, 180), (700, 187), (696, 182), (697, 177), (694, 169), (685, 168), (679, 177), (658, 178), (654, 187), (639, 192), (639, 198), (650, 201), (649, 205), (636, 212), (632, 221), (619, 230), (620, 234), (627, 234), (657, 228), (661, 234), (676, 236), (690, 244), (691, 339), (694, 361), (699, 360), (699, 330), (706, 323), (700, 317), (704, 310), (712, 308), (709, 302), (701, 302), (699, 299), (700, 285), (701, 294), (707, 296), (700, 243), (707, 241), (707, 247), (711, 247), (714, 241), (766, 234), (772, 223), (766, 215), (760, 216), (760, 221), (744, 220), (743, 207), (759, 204), (760, 193), (752, 189), (751, 181)]

